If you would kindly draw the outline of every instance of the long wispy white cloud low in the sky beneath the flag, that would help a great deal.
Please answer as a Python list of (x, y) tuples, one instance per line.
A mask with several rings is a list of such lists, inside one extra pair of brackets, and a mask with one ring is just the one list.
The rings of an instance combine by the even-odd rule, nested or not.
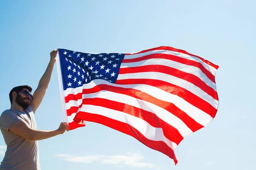
[(160, 169), (155, 164), (142, 162), (144, 157), (140, 153), (127, 153), (127, 155), (115, 155), (115, 156), (105, 156), (105, 155), (89, 155), (89, 156), (74, 156), (70, 154), (58, 154), (55, 155), (62, 157), (65, 161), (79, 162), (79, 163), (93, 163), (98, 162), (101, 164), (114, 164), (116, 167), (121, 167), (121, 164), (131, 166), (131, 167), (147, 167)]

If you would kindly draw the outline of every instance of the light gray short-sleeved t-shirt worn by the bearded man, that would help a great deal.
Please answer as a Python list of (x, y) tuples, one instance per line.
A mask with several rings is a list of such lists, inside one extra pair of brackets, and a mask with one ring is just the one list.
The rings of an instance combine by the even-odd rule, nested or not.
[(0, 170), (40, 170), (38, 141), (30, 141), (12, 133), (9, 128), (23, 119), (32, 129), (37, 129), (32, 106), (24, 111), (8, 109), (0, 116), (0, 130), (7, 145)]

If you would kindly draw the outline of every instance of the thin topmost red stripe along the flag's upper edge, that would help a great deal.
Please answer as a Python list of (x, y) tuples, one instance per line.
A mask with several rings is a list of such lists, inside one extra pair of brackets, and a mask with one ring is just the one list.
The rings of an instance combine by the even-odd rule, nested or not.
[[(216, 70), (218, 69), (218, 65), (215, 65), (213, 64), (212, 62), (206, 60), (206, 59), (203, 59), (202, 57), (199, 57), (199, 56), (196, 56), (194, 54), (190, 54), (184, 50), (180, 50), (180, 49), (177, 49), (177, 48), (173, 48), (173, 47), (166, 47), (166, 46), (160, 46), (160, 47), (156, 47), (156, 48), (150, 48), (148, 50), (143, 50), (143, 51), (140, 51), (138, 53), (134, 53), (134, 54), (140, 54), (140, 53), (145, 53), (145, 52), (148, 52), (148, 51), (153, 51), (153, 50), (170, 50), (170, 51), (176, 51), (176, 52), (179, 52), (179, 53), (183, 53), (183, 54), (188, 54), (190, 56), (194, 56), (194, 57), (197, 57), (199, 59), (201, 59), (203, 62), (207, 63), (208, 65), (211, 65), (213, 68), (215, 68)], [(125, 54), (125, 55), (133, 55), (133, 54)]]

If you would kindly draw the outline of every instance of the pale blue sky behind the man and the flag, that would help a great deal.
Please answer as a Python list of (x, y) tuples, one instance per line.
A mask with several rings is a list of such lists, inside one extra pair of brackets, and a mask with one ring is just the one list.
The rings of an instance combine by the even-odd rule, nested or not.
[[(41, 168), (253, 169), (255, 7), (253, 0), (1, 1), (0, 110), (10, 108), (13, 87), (27, 84), (35, 90), (55, 48), (130, 53), (172, 46), (219, 65), (217, 115), (178, 145), (176, 166), (131, 136), (86, 122), (86, 127), (39, 141)], [(35, 118), (42, 130), (55, 130), (63, 121), (56, 65)], [(5, 146), (1, 135), (0, 159)]]

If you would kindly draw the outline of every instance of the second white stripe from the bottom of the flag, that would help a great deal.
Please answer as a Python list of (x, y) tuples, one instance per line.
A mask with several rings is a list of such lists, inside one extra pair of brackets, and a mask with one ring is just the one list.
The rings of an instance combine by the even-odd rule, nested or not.
[[(154, 105), (150, 102), (146, 102), (141, 99), (137, 99), (131, 96), (127, 96), (125, 94), (118, 94), (111, 91), (99, 91), (97, 93), (92, 94), (83, 94), (82, 99), (85, 98), (102, 98), (102, 99), (108, 99), (115, 102), (121, 102), (125, 103), (127, 105), (131, 105), (137, 108), (141, 108), (145, 111), (155, 113), (157, 117), (164, 120), (169, 125), (172, 125), (175, 127), (181, 134), (181, 136), (185, 137), (188, 134), (192, 133), (192, 130), (187, 127), (187, 125), (182, 122), (179, 118), (174, 116), (169, 111), (166, 111), (164, 108), (161, 108), (157, 105)], [(79, 99), (78, 101), (70, 100), (66, 105), (67, 109), (70, 109), (72, 106), (79, 106), (82, 104), (82, 99)], [(79, 112), (78, 110), (77, 112)]]

